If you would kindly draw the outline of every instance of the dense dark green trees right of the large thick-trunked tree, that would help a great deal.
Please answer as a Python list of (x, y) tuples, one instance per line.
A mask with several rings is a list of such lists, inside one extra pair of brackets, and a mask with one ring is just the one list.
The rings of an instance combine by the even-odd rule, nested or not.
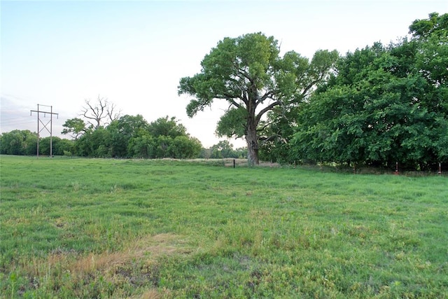
[(337, 76), (301, 106), (292, 157), (413, 169), (447, 162), (448, 42), (436, 23), (414, 22), (418, 39), (342, 57)]

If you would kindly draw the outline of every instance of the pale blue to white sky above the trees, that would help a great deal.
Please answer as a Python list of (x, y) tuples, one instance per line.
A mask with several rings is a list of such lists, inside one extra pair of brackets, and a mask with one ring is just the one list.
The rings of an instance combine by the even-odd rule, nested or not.
[(62, 125), (79, 117), (85, 99), (104, 97), (148, 123), (174, 116), (208, 148), (224, 139), (214, 132), (228, 105), (216, 101), (188, 118), (191, 97), (179, 96), (178, 85), (201, 71), (204, 55), (224, 37), (262, 32), (279, 41), (281, 54), (311, 59), (316, 50), (344, 55), (398, 41), (433, 12), (448, 13), (448, 1), (1, 0), (0, 131), (36, 132), (31, 110), (40, 104), (58, 113), (52, 135), (64, 137)]

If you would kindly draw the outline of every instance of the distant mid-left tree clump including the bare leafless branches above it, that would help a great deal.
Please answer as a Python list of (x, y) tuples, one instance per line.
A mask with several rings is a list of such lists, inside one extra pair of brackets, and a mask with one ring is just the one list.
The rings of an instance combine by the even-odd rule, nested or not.
[(76, 155), (109, 158), (195, 158), (202, 145), (175, 117), (148, 123), (143, 116), (120, 116), (102, 97), (85, 101), (83, 117), (66, 120), (62, 134), (73, 139)]

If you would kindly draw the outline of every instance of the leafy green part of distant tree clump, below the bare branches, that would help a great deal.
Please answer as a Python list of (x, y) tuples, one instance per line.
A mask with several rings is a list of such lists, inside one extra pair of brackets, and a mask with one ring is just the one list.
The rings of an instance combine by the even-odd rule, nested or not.
[[(75, 141), (76, 155), (99, 158), (195, 158), (202, 145), (176, 118), (147, 123), (141, 115), (125, 115), (107, 127), (86, 130)], [(69, 149), (66, 149), (69, 151)]]

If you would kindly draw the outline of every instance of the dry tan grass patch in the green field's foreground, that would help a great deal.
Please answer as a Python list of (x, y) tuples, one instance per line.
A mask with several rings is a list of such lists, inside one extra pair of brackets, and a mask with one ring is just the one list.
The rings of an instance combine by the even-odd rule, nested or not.
[(80, 256), (73, 251), (55, 251), (47, 258), (34, 258), (22, 268), (30, 279), (46, 277), (35, 281), (34, 289), (68, 288), (71, 294), (82, 295), (83, 289), (95, 286), (102, 295), (127, 297), (129, 294), (125, 289), (141, 288), (146, 290), (145, 293), (134, 298), (161, 298), (167, 297), (167, 293), (157, 291), (162, 267), (160, 260), (164, 256), (192, 251), (183, 237), (160, 234), (141, 237), (116, 252)]

